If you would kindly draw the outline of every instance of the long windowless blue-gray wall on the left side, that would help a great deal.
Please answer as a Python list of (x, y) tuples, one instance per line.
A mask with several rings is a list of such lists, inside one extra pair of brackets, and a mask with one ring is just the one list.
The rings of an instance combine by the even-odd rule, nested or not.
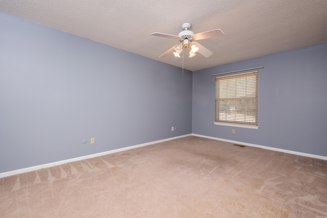
[(191, 71), (0, 13), (0, 173), (191, 132)]

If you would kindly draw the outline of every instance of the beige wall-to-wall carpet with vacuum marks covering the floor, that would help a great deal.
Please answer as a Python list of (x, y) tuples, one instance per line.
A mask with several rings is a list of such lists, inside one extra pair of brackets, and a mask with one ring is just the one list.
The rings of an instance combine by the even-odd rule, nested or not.
[(0, 217), (327, 217), (327, 161), (195, 136), (0, 179)]

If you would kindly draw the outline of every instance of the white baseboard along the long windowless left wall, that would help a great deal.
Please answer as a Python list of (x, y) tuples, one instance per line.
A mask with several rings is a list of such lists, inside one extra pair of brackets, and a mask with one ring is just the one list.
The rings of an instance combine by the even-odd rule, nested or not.
[(99, 157), (99, 156), (103, 156), (103, 155), (107, 155), (107, 154), (112, 154), (112, 153), (117, 153), (117, 152), (130, 150), (130, 149), (135, 149), (135, 148), (139, 148), (139, 147), (149, 146), (150, 144), (156, 144), (156, 143), (160, 143), (160, 142), (164, 142), (164, 141), (170, 141), (170, 140), (173, 140), (173, 139), (183, 138), (183, 137), (187, 137), (187, 136), (191, 136), (191, 135), (192, 134), (181, 135), (181, 136), (176, 136), (176, 137), (172, 137), (172, 138), (166, 138), (166, 139), (162, 139), (162, 140), (151, 141), (151, 142), (147, 142), (147, 143), (143, 143), (143, 144), (137, 144), (135, 146), (129, 146), (129, 147), (121, 148), (121, 149), (115, 149), (115, 150), (111, 150), (111, 151), (101, 152), (101, 153), (97, 153), (97, 154), (90, 154), (90, 155), (86, 155), (86, 156), (82, 156), (82, 157), (76, 157), (76, 158), (72, 158), (72, 159), (61, 160), (61, 161), (46, 163), (46, 164), (37, 165), (37, 166), (31, 166), (31, 167), (22, 168), (22, 169), (16, 169), (15, 171), (0, 173), (0, 178), (4, 178), (4, 177), (7, 177), (7, 176), (13, 176), (13, 175), (16, 175), (16, 174), (21, 174), (21, 173), (27, 173), (27, 172), (31, 172), (31, 171), (36, 171), (37, 169), (48, 168), (48, 167), (51, 167), (51, 166), (57, 166), (57, 165), (68, 163), (68, 162), (79, 161), (79, 160), (84, 160), (84, 159), (88, 159), (88, 158)]

